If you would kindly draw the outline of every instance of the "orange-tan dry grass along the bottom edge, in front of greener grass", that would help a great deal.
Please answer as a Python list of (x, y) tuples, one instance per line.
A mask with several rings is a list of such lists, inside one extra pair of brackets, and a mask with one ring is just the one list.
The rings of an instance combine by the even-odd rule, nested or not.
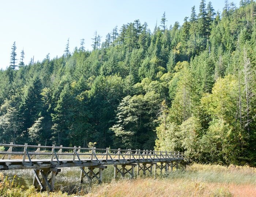
[(154, 180), (152, 178), (122, 180), (94, 186), (87, 197), (255, 197), (256, 187), (252, 184), (206, 183), (201, 180)]

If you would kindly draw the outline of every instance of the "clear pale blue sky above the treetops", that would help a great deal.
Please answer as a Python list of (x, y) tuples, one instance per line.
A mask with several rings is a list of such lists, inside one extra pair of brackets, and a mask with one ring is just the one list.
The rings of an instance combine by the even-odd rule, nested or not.
[[(139, 19), (153, 30), (166, 13), (167, 27), (175, 21), (183, 23), (191, 7), (199, 11), (201, 0), (0, 0), (0, 69), (10, 65), (11, 47), (17, 47), (17, 59), (24, 48), (25, 64), (42, 61), (64, 53), (69, 38), (70, 51), (80, 46), (84, 38), (86, 50), (91, 50), (94, 32), (105, 40), (117, 25)], [(222, 12), (224, 0), (212, 0), (215, 11)], [(230, 0), (231, 2), (231, 0)], [(239, 7), (239, 0), (233, 0)], [(208, 1), (206, 1), (206, 5)]]

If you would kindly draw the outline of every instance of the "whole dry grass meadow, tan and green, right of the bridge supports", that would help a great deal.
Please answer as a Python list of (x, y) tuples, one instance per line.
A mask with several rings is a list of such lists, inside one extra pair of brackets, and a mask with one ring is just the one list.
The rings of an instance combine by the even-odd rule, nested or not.
[(87, 197), (255, 197), (256, 169), (248, 166), (188, 166), (157, 179), (138, 178), (94, 185)]

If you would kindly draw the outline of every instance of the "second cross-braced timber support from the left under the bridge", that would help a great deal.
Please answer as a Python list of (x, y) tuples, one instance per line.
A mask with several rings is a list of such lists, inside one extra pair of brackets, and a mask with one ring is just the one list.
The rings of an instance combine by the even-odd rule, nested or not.
[[(94, 172), (95, 169), (99, 169), (98, 172)], [(102, 171), (106, 169), (107, 166), (90, 166), (88, 167), (88, 172), (85, 172), (85, 167), (80, 167), (81, 174), (80, 174), (80, 183), (83, 183), (83, 178), (87, 177), (88, 182), (92, 182), (93, 178), (96, 178), (99, 184), (102, 182)]]

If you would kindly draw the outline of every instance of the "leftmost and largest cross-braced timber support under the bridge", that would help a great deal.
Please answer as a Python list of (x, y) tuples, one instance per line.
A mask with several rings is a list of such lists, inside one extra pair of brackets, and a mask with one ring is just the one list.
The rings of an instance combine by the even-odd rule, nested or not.
[[(57, 168), (48, 168), (48, 169), (34, 169), (34, 180), (33, 185), (35, 188), (38, 189), (38, 186), (40, 186), (41, 191), (45, 191), (47, 188), (50, 192), (53, 192), (54, 189), (54, 182), (55, 177), (57, 174), (61, 171), (61, 169)], [(41, 177), (40, 178), (40, 173)], [(48, 176), (51, 174), (50, 179), (48, 180)]]

